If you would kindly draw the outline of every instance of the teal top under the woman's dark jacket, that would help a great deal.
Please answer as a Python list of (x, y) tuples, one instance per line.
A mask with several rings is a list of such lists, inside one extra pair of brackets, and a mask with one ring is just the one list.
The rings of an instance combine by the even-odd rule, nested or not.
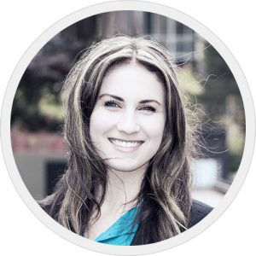
[(138, 224), (132, 225), (136, 218), (137, 207), (131, 208), (125, 212), (112, 226), (96, 238), (95, 241), (119, 245), (130, 246), (133, 237), (135, 236)]

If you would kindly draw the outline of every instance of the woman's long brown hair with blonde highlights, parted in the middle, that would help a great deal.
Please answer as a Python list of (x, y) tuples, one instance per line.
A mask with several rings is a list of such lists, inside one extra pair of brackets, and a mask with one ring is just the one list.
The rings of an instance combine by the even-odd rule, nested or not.
[[(148, 164), (137, 200), (139, 228), (132, 244), (147, 244), (186, 230), (191, 207), (190, 167), (193, 130), (179, 91), (169, 52), (153, 39), (115, 36), (91, 46), (73, 67), (61, 98), (66, 114), (64, 134), (69, 148), (67, 172), (55, 192), (39, 204), (68, 230), (82, 235), (104, 201), (108, 165), (90, 140), (90, 115), (102, 79), (113, 66), (136, 61), (156, 73), (165, 88), (166, 125), (158, 152)], [(101, 195), (97, 195), (101, 191)], [(150, 232), (148, 232), (150, 227)]]

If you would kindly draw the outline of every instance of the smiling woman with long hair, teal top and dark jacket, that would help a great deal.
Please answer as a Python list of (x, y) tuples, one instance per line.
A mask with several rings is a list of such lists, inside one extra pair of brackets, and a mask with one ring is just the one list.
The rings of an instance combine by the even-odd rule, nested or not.
[(154, 40), (93, 45), (69, 73), (67, 172), (41, 207), (68, 230), (115, 245), (162, 241), (211, 207), (192, 201), (194, 135), (171, 56)]

